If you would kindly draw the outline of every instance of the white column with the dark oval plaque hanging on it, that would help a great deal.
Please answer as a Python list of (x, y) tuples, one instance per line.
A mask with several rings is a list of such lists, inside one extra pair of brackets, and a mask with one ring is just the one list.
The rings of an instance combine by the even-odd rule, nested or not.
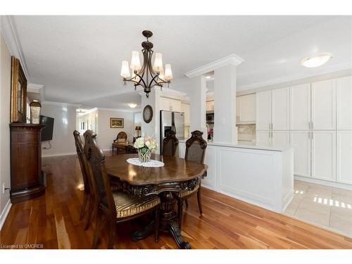
[[(142, 120), (141, 120), (141, 129), (142, 136), (148, 135), (156, 139), (156, 142), (160, 142), (160, 106), (159, 106), (159, 98), (160, 91), (158, 88), (151, 89), (152, 92), (149, 93), (149, 98), (146, 98), (146, 94), (144, 92), (139, 93), (142, 96)], [(146, 123), (143, 119), (143, 110), (144, 107), (150, 105), (153, 108), (153, 119), (151, 122)], [(160, 146), (156, 153), (160, 153)]]

